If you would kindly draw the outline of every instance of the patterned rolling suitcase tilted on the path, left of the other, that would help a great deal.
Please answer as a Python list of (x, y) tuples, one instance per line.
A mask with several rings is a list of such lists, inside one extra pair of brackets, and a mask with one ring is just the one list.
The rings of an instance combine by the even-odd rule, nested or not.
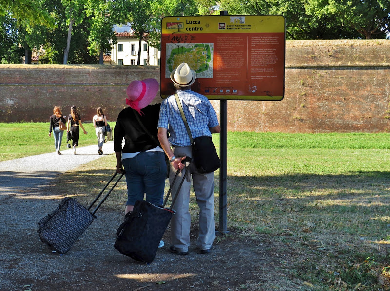
[(51, 213), (46, 215), (38, 222), (38, 234), (42, 242), (46, 243), (53, 252), (59, 252), (60, 255), (69, 251), (79, 236), (88, 228), (96, 218), (95, 213), (110, 195), (111, 191), (117, 185), (124, 174), (121, 174), (110, 191), (103, 197), (93, 212), (89, 212), (103, 191), (114, 180), (115, 173), (106, 186), (101, 190), (95, 200), (86, 209), (75, 199), (65, 197), (59, 206)]

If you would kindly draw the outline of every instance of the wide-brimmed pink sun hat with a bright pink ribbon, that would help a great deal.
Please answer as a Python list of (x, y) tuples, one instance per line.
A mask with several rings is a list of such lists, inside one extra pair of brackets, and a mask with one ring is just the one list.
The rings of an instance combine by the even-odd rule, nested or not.
[(126, 104), (141, 114), (141, 109), (155, 99), (159, 85), (156, 79), (133, 81), (126, 89)]

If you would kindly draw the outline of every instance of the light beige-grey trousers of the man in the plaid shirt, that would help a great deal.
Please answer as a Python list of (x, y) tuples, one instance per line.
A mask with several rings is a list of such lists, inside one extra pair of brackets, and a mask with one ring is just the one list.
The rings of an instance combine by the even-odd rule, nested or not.
[[(192, 157), (191, 146), (173, 148), (176, 157)], [(187, 163), (188, 164), (188, 163)], [(183, 169), (178, 175), (172, 188), (173, 195), (180, 184), (181, 177), (185, 173)], [(186, 180), (181, 186), (180, 192), (173, 209), (176, 214), (171, 220), (171, 244), (179, 252), (187, 252), (190, 246), (191, 215), (189, 212), (191, 183), (194, 187), (196, 203), (199, 207), (199, 236), (196, 246), (201, 250), (209, 249), (215, 239), (215, 211), (214, 211), (214, 172), (200, 174), (197, 172), (195, 163), (192, 162), (187, 168)], [(169, 182), (172, 183), (176, 170), (171, 166)]]

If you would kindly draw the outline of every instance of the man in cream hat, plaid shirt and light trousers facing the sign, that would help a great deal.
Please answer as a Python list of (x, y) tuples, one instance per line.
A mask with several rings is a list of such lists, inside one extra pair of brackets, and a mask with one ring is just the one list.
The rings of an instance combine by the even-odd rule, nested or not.
[[(180, 64), (171, 73), (176, 94), (179, 96), (193, 138), (219, 133), (217, 115), (207, 97), (191, 90), (196, 72), (187, 63)], [(167, 138), (167, 132), (169, 138)], [(184, 168), (184, 159), (192, 158), (192, 147), (186, 127), (176, 103), (175, 95), (165, 99), (160, 108), (158, 139), (171, 162), (170, 182), (177, 170)], [(172, 146), (172, 148), (171, 148)], [(201, 174), (195, 163), (189, 171), (174, 205), (176, 214), (171, 220), (170, 250), (178, 255), (188, 255), (190, 246), (191, 215), (189, 212), (191, 180), (199, 206), (199, 236), (196, 242), (201, 254), (208, 254), (215, 239), (214, 172)], [(182, 171), (183, 172), (183, 171)], [(181, 173), (180, 175), (183, 175)], [(179, 179), (179, 178), (178, 178)], [(176, 193), (175, 186), (172, 193)]]

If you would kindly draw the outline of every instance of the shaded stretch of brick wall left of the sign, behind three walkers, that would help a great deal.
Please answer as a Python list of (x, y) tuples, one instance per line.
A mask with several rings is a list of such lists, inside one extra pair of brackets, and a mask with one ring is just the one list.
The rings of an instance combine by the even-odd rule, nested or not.
[(97, 107), (103, 108), (109, 120), (116, 120), (127, 107), (130, 82), (158, 80), (159, 72), (159, 67), (0, 65), (0, 120), (48, 121), (54, 106), (67, 116), (72, 105), (79, 108), (83, 121), (92, 121)]

